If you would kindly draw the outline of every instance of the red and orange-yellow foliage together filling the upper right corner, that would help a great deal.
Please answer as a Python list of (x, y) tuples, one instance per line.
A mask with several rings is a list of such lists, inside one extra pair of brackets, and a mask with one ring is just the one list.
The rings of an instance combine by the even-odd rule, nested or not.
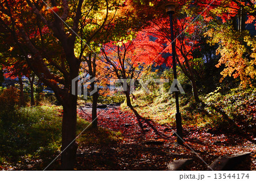
[[(201, 8), (209, 7), (202, 15), (207, 20), (208, 43), (217, 44), (221, 58), (216, 65), (224, 64), (222, 81), (227, 76), (240, 77), (243, 87), (250, 85), (256, 75), (255, 37), (246, 30), (246, 24), (255, 26), (255, 1), (195, 1)], [(220, 17), (217, 19), (216, 17)], [(247, 17), (247, 20), (246, 20)]]

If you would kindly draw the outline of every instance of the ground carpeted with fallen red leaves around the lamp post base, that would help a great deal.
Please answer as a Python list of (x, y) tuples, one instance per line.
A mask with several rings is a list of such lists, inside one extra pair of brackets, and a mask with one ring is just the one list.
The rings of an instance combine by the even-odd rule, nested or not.
[[(79, 110), (79, 115), (90, 120), (86, 108)], [(168, 163), (181, 158), (194, 158), (185, 170), (205, 170), (222, 155), (244, 152), (252, 153), (235, 170), (256, 170), (256, 139), (253, 137), (185, 127), (185, 143), (180, 146), (175, 144), (175, 128), (168, 125), (152, 122), (165, 135), (160, 137), (146, 123), (143, 123), (146, 133), (142, 134), (133, 113), (118, 107), (99, 110), (98, 115), (98, 125), (121, 132), (122, 140), (106, 145), (80, 144), (76, 170), (167, 170)]]

